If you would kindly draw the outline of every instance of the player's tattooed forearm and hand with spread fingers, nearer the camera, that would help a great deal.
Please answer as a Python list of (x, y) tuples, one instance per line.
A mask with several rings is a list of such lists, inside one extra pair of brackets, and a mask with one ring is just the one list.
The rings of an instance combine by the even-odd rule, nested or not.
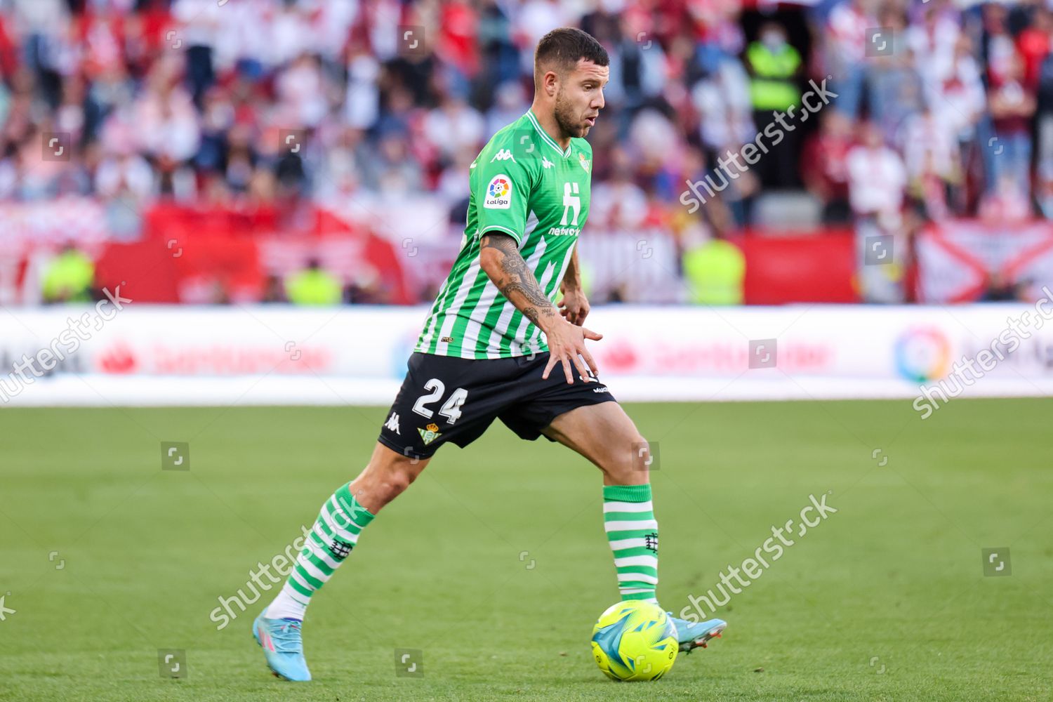
[[(483, 235), (479, 241), (479, 265), (501, 295), (544, 333), (550, 357), (541, 377), (548, 378), (553, 366), (562, 363), (567, 382), (573, 383), (573, 363), (585, 382), (590, 382), (589, 369), (594, 374), (597, 369), (596, 362), (585, 348), (585, 339), (599, 341), (603, 335), (590, 332), (583, 326), (575, 326), (557, 314), (555, 305), (545, 296), (526, 261), (519, 254), (515, 239), (498, 232)], [(589, 364), (588, 368), (585, 363)]]

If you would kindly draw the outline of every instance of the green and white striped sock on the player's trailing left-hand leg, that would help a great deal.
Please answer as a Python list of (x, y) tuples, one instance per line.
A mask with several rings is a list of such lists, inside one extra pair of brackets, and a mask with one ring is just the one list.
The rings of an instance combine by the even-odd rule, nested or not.
[(307, 533), (293, 571), (264, 615), (269, 619), (303, 619), (314, 595), (340, 567), (374, 515), (343, 485), (322, 505)]

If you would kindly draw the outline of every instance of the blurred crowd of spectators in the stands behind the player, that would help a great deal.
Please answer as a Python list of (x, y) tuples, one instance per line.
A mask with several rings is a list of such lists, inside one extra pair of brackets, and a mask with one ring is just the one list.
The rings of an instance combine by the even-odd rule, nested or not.
[[(159, 200), (310, 200), (403, 247), (455, 240), (468, 166), (560, 25), (611, 55), (582, 241), (614, 252), (600, 299), (706, 301), (691, 272), (739, 269), (708, 246), (769, 224), (771, 194), (875, 232), (1053, 215), (1053, 15), (950, 0), (0, 0), (0, 200), (96, 197), (131, 238)], [(810, 80), (831, 106), (689, 213), (686, 183)], [(641, 241), (653, 265), (625, 277)]]

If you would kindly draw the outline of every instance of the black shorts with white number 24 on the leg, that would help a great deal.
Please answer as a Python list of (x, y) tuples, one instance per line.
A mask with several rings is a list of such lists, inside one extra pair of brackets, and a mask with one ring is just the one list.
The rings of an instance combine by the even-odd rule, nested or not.
[(587, 383), (577, 370), (568, 384), (561, 363), (542, 380), (548, 362), (548, 352), (479, 360), (413, 354), (379, 441), (403, 456), (429, 458), (448, 441), (469, 445), (495, 418), (533, 441), (564, 412), (614, 401), (607, 385)]

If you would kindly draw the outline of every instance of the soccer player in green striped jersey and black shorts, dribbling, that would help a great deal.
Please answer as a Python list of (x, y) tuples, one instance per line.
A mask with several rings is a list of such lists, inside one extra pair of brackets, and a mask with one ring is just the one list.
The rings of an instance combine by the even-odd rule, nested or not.
[[(623, 600), (657, 602), (658, 523), (647, 443), (585, 348), (575, 243), (589, 215), (592, 147), (608, 55), (574, 28), (545, 35), (534, 55), (534, 103), (494, 135), (471, 167), (468, 226), (432, 305), (409, 373), (369, 465), (322, 505), (289, 580), (253, 623), (280, 678), (310, 680), (301, 625), (312, 597), (380, 509), (446, 442), (464, 447), (500, 419), (523, 439), (544, 436), (603, 473), (603, 521)], [(558, 307), (557, 293), (563, 297)], [(727, 624), (673, 620), (681, 650)]]

